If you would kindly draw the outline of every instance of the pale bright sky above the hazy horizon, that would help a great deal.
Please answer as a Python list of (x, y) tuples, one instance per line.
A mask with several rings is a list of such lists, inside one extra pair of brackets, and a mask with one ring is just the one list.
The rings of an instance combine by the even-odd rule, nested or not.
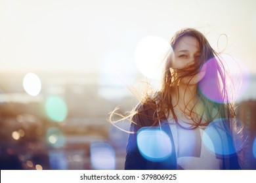
[(256, 73), (255, 0), (0, 0), (0, 71), (128, 72), (141, 39), (169, 41), (182, 27), (216, 50), (226, 34), (224, 52)]

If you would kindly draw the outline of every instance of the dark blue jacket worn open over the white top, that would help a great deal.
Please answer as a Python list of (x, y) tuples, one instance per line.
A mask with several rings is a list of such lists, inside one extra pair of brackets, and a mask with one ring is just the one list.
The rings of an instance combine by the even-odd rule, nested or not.
[[(171, 146), (173, 147), (170, 156), (163, 159), (163, 161), (150, 161), (140, 154), (140, 150), (137, 144), (137, 131), (139, 131), (141, 127), (152, 126), (152, 124), (154, 124), (154, 119), (156, 118), (156, 112), (154, 112), (153, 109), (146, 109), (145, 105), (140, 105), (137, 110), (139, 113), (133, 116), (133, 122), (136, 124), (132, 123), (130, 127), (130, 131), (133, 131), (134, 133), (129, 134), (128, 137), (125, 169), (177, 169), (177, 155), (175, 152), (173, 132), (171, 131), (166, 118), (161, 119), (157, 124), (161, 125), (161, 130), (165, 131), (165, 133), (169, 135)], [(225, 155), (222, 158), (223, 169), (240, 169), (236, 154)]]

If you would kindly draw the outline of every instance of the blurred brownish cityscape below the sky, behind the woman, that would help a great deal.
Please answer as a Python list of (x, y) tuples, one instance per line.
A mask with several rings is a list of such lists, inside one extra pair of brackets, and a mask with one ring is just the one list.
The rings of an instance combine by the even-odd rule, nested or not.
[[(123, 169), (128, 134), (107, 118), (119, 105), (125, 112), (138, 103), (128, 88), (99, 84), (93, 73), (37, 73), (42, 87), (33, 96), (25, 75), (0, 73), (1, 169)], [(255, 87), (251, 77), (251, 93), (237, 108), (249, 131), (246, 169), (256, 168)], [(129, 122), (117, 125), (129, 129)]]

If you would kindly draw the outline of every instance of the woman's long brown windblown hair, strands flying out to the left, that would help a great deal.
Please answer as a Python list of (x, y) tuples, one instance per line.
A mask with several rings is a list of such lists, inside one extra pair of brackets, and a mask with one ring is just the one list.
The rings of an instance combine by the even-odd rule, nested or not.
[[(175, 33), (170, 41), (173, 50), (175, 49), (175, 46), (177, 46), (177, 42), (179, 42), (181, 38), (185, 36), (194, 37), (199, 43), (201, 54), (198, 63), (195, 63), (190, 69), (179, 69), (180, 74), (177, 75), (178, 71), (174, 71), (173, 69), (171, 69), (171, 56), (166, 56), (165, 69), (163, 71), (160, 91), (156, 91), (154, 95), (152, 95), (152, 93), (144, 93), (144, 96), (142, 97), (139, 105), (146, 106), (146, 108), (143, 107), (142, 110), (154, 110), (155, 113), (158, 114), (156, 115), (157, 117), (148, 116), (148, 118), (154, 118), (154, 123), (152, 125), (157, 125), (159, 120), (163, 118), (168, 118), (170, 114), (172, 114), (175, 122), (179, 124), (179, 120), (177, 118), (177, 115), (175, 114), (175, 110), (172, 104), (171, 92), (173, 92), (175, 87), (179, 86), (179, 82), (182, 78), (186, 76), (190, 76), (192, 78), (192, 76), (196, 75), (203, 67), (203, 65), (206, 64), (205, 76), (202, 78), (202, 80), (200, 80), (200, 86), (205, 86), (209, 84), (209, 80), (205, 78), (211, 78), (211, 80), (214, 81), (212, 82), (213, 85), (211, 85), (211, 88), (215, 88), (215, 95), (221, 102), (212, 101), (211, 99), (205, 97), (205, 95), (203, 95), (198, 86), (196, 95), (204, 105), (204, 113), (207, 116), (207, 120), (206, 122), (202, 123), (203, 116), (200, 116), (199, 120), (198, 118), (192, 118), (192, 128), (198, 127), (200, 125), (208, 125), (210, 122), (215, 120), (215, 118), (228, 119), (228, 122), (230, 122), (229, 119), (234, 118), (235, 112), (234, 105), (228, 100), (228, 93), (226, 90), (225, 81), (226, 73), (221, 56), (219, 56), (219, 54), (217, 54), (217, 52), (215, 52), (215, 50), (211, 48), (209, 42), (207, 41), (205, 36), (200, 33), (200, 31), (192, 28), (181, 29), (180, 31), (177, 31), (177, 33)], [(209, 59), (211, 59), (212, 61), (209, 62)], [(133, 122), (132, 116), (142, 112), (142, 110), (139, 110), (139, 108), (140, 107), (137, 106), (127, 115), (118, 114), (117, 110), (114, 110), (110, 114), (110, 122), (115, 122), (112, 120), (113, 116), (115, 115), (121, 117), (121, 119), (117, 120), (116, 122), (124, 119), (128, 119)], [(192, 113), (192, 110), (190, 110), (190, 114), (187, 115), (193, 116)], [(226, 120), (224, 121), (226, 122)], [(230, 123), (228, 123), (227, 125), (228, 129), (230, 129), (229, 124)]]

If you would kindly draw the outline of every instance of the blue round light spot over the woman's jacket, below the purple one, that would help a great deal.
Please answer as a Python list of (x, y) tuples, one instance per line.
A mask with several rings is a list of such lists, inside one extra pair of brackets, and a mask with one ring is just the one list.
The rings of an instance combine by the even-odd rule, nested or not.
[(226, 119), (217, 119), (211, 122), (203, 132), (203, 144), (211, 152), (217, 155), (230, 155), (236, 153), (232, 136), (226, 131), (224, 123)]

